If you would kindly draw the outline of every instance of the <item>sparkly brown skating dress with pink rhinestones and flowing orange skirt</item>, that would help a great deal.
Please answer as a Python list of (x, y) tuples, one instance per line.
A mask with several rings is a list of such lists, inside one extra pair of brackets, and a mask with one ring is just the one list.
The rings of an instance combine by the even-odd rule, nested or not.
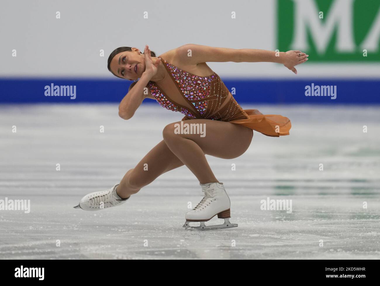
[(262, 114), (256, 109), (243, 110), (216, 73), (196, 76), (162, 58), (161, 61), (168, 73), (160, 83), (149, 81), (150, 93), (163, 107), (184, 114), (182, 121), (228, 121), (247, 126), (267, 136), (289, 135), (291, 122), (287, 117)]

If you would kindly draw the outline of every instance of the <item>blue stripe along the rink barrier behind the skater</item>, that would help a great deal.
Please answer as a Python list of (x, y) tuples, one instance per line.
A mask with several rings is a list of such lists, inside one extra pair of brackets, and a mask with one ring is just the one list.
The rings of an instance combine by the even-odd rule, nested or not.
[[(378, 104), (380, 79), (223, 79), (239, 103)], [(336, 99), (305, 96), (305, 87), (336, 86)], [(76, 86), (76, 98), (45, 96), (45, 86)], [(120, 102), (131, 81), (122, 79), (0, 78), (0, 103)], [(145, 102), (145, 101), (144, 101)]]

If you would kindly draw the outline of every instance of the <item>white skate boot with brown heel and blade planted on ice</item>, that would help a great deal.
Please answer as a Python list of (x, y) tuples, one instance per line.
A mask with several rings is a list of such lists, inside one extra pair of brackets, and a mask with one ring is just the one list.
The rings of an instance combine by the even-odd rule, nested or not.
[[(228, 197), (223, 183), (200, 184), (204, 197), (198, 205), (185, 215), (186, 222), (183, 225), (185, 229), (211, 230), (226, 229), (237, 227), (237, 224), (231, 224), (230, 216), (230, 198)], [(205, 221), (209, 221), (214, 216), (224, 219), (224, 224), (206, 226)], [(200, 222), (200, 226), (190, 226), (190, 222)]]

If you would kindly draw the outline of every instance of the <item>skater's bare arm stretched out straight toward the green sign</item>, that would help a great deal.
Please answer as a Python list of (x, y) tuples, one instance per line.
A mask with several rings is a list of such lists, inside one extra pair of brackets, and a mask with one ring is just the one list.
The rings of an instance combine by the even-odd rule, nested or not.
[[(178, 48), (182, 57), (193, 64), (201, 62), (275, 62), (297, 74), (294, 66), (306, 62), (309, 55), (301, 51), (276, 52), (261, 49), (231, 49), (185, 44)], [(189, 53), (191, 51), (191, 53)], [(191, 55), (191, 56), (189, 56)]]

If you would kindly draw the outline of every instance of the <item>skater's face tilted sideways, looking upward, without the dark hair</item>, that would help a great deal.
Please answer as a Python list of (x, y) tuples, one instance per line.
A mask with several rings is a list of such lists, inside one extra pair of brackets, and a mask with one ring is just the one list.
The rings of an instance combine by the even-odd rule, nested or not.
[(121, 78), (129, 80), (141, 78), (145, 70), (144, 55), (139, 54), (137, 48), (132, 48), (132, 51), (119, 52), (112, 58), (109, 67), (115, 75)]

